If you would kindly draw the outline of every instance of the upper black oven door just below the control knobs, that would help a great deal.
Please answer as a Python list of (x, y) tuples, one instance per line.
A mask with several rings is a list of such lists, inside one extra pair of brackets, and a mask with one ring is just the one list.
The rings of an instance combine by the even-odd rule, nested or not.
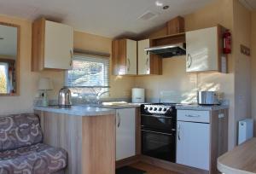
[(172, 132), (176, 129), (176, 119), (165, 115), (142, 114), (142, 129)]

